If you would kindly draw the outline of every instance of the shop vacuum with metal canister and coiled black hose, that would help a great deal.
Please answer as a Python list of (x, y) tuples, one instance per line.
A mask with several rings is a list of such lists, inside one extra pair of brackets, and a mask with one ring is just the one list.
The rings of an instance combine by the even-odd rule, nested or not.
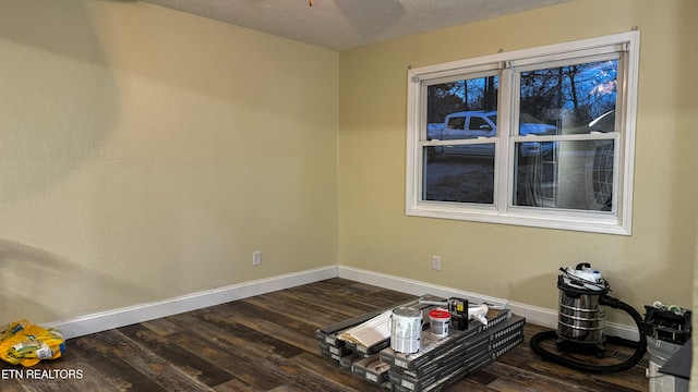
[[(561, 268), (559, 270), (562, 273), (557, 277), (557, 289), (559, 289), (557, 330), (533, 335), (530, 341), (531, 350), (544, 359), (590, 373), (619, 372), (637, 365), (647, 352), (647, 336), (640, 314), (624, 302), (609, 296), (611, 291), (609, 283), (601, 277), (599, 270), (592, 269), (588, 262), (581, 262), (575, 269)], [(633, 318), (639, 331), (639, 342), (604, 335), (605, 306), (624, 310)], [(634, 347), (635, 353), (623, 363), (592, 365), (542, 348), (541, 342), (550, 339), (555, 339), (558, 352), (573, 350), (582, 353), (592, 352), (598, 358), (603, 358), (605, 343), (609, 342)]]

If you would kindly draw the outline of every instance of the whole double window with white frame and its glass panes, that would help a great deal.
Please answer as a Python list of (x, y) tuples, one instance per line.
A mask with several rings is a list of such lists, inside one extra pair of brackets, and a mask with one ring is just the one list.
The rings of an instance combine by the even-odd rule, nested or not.
[(630, 234), (639, 32), (408, 72), (410, 216)]

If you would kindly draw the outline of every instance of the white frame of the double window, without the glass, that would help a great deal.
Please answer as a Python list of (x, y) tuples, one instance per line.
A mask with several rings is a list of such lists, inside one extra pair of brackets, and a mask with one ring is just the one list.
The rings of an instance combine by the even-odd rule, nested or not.
[[(637, 112), (637, 84), (639, 68), (639, 30), (582, 39), (577, 41), (501, 52), (474, 59), (459, 60), (408, 70), (407, 101), (407, 177), (406, 215), (429, 218), (456, 219), (477, 222), (504, 223), (526, 226), (574, 230), (607, 234), (631, 234), (633, 177), (635, 160), (635, 126)], [(517, 70), (529, 64), (540, 68), (575, 58), (610, 56), (624, 52), (618, 61), (618, 91), (616, 130), (603, 137), (615, 142), (614, 185), (612, 211), (566, 210), (513, 205), (515, 179), (512, 146), (524, 136), (515, 135), (512, 124), (517, 121), (518, 102), (513, 94), (517, 88)], [(494, 204), (430, 201), (422, 198), (423, 148), (440, 142), (426, 139), (426, 82), (456, 75), (501, 70), (497, 111), (498, 134), (490, 139), (495, 144)], [(514, 70), (514, 71), (513, 71)], [(519, 71), (520, 72), (520, 71)], [(586, 135), (581, 138), (590, 137)], [(535, 136), (545, 142), (545, 136)], [(599, 135), (593, 135), (599, 138)]]

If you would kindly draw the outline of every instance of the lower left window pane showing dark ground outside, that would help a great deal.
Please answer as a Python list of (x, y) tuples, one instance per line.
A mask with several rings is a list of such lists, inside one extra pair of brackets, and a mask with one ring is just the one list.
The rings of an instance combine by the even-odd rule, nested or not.
[(494, 144), (477, 146), (490, 154), (436, 158), (434, 147), (424, 147), (422, 199), (493, 204)]

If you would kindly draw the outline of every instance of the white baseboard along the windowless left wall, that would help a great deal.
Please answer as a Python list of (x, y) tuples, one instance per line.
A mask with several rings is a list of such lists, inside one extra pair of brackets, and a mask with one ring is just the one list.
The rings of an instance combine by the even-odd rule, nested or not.
[(316, 268), (51, 322), (46, 327), (57, 328), (63, 338), (73, 339), (336, 277), (336, 266)]

